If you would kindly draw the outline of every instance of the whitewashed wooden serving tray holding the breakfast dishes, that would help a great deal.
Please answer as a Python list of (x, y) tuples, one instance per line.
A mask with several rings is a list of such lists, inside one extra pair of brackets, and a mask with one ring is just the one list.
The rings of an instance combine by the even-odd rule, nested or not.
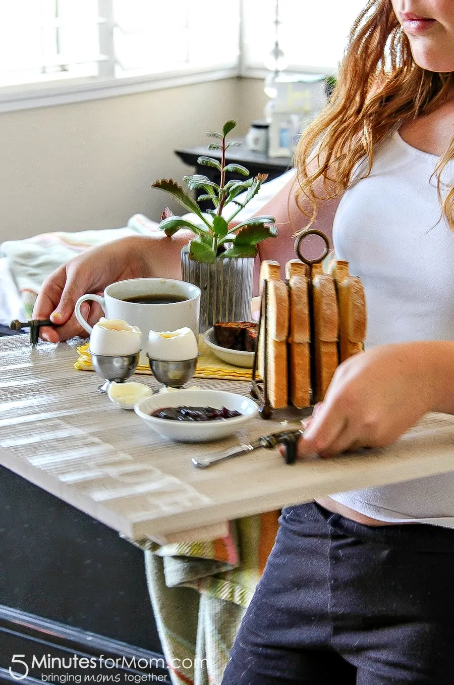
[[(25, 335), (0, 340), (0, 463), (131, 538), (162, 541), (340, 490), (454, 470), (454, 417), (446, 414), (427, 415), (386, 449), (292, 466), (276, 451), (259, 450), (195, 469), (192, 456), (222, 451), (238, 438), (167, 442), (97, 393), (95, 373), (73, 369), (77, 344), (31, 348)], [(139, 379), (157, 389), (154, 379)], [(246, 382), (197, 384), (249, 393)], [(254, 419), (240, 438), (281, 430), (284, 416)], [(296, 425), (297, 418), (289, 421)]]

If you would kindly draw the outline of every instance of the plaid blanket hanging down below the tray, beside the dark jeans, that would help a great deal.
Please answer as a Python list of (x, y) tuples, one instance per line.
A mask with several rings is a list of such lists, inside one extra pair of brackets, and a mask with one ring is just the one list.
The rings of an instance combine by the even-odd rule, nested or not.
[(277, 534), (280, 512), (229, 523), (212, 542), (156, 545), (145, 551), (157, 630), (174, 685), (220, 685), (242, 616)]

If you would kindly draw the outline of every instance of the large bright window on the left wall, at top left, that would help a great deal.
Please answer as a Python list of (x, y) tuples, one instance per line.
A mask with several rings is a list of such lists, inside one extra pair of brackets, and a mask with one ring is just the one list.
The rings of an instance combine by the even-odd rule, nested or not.
[(238, 69), (239, 0), (0, 0), (0, 88)]

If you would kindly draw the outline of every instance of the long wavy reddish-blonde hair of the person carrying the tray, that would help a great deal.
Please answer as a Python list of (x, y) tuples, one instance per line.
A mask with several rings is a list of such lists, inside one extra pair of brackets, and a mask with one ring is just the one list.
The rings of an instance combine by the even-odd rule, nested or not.
[[(321, 200), (349, 187), (360, 160), (368, 161), (366, 177), (377, 145), (403, 121), (435, 110), (453, 86), (454, 73), (435, 73), (416, 64), (391, 0), (369, 0), (351, 29), (331, 101), (305, 130), (295, 152), (297, 203), (308, 225), (314, 223)], [(454, 138), (435, 170), (442, 215), (451, 229), (454, 188), (443, 192), (441, 175), (453, 158)], [(316, 160), (315, 171), (313, 164), (308, 169), (311, 159)], [(317, 194), (314, 184), (320, 177), (324, 190)], [(301, 208), (301, 197), (311, 201), (312, 213)]]

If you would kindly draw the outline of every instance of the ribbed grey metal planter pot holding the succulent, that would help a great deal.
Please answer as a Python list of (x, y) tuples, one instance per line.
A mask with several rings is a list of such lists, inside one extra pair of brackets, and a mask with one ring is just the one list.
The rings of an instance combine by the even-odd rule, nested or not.
[(219, 321), (251, 319), (254, 262), (251, 257), (219, 257), (214, 264), (203, 264), (190, 260), (187, 249), (181, 250), (182, 279), (202, 291), (201, 333)]

